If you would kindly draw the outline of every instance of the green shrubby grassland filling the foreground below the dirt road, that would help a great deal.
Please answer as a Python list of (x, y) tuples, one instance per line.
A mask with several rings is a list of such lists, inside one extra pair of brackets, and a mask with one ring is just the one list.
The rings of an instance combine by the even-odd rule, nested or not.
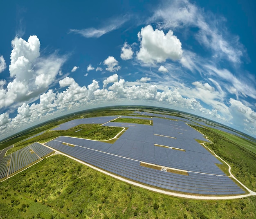
[(256, 197), (180, 199), (54, 155), (0, 183), (0, 218), (252, 218)]

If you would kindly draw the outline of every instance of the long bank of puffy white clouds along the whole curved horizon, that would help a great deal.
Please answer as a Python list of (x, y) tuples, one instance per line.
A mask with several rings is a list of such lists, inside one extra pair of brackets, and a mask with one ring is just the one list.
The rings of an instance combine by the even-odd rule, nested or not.
[[(81, 87), (73, 78), (65, 77), (59, 81), (61, 87), (67, 87), (63, 92), (54, 92), (50, 89), (48, 92), (40, 95), (40, 103), (33, 103), (31, 105), (24, 103), (18, 108), (18, 114), (15, 118), (10, 119), (7, 113), (0, 115), (0, 130), (3, 130), (0, 138), (6, 136), (7, 133), (13, 133), (24, 125), (33, 125), (42, 120), (56, 117), (61, 113), (66, 113), (67, 110), (74, 112), (98, 104), (116, 104), (117, 100), (119, 103), (129, 103), (129, 101), (132, 101), (131, 103), (135, 103), (135, 101), (137, 101), (136, 103), (141, 103), (142, 101), (147, 101), (145, 103), (167, 104), (170, 108), (189, 110), (205, 117), (220, 119), (224, 119), (223, 113), (228, 114), (229, 110), (233, 110), (237, 115), (243, 114), (241, 116), (243, 123), (249, 121), (247, 129), (249, 133), (253, 133), (252, 127), (255, 125), (256, 113), (240, 101), (233, 99), (230, 99), (230, 109), (226, 106), (226, 112), (224, 104), (218, 105), (221, 102), (218, 101), (222, 98), (221, 94), (208, 83), (196, 81), (193, 83), (195, 88), (187, 88), (186, 90), (191, 93), (191, 96), (185, 97), (182, 94), (185, 89), (170, 89), (168, 87), (159, 89), (158, 85), (146, 83), (150, 80), (148, 77), (143, 77), (128, 85), (129, 83), (126, 83), (124, 79), (119, 79), (117, 74), (113, 74), (103, 80), (103, 87), (100, 88), (96, 80), (93, 80), (87, 87)], [(106, 88), (109, 83), (112, 83), (112, 85)], [(217, 105), (220, 109), (213, 108), (209, 110), (204, 108), (200, 101), (197, 100), (197, 94), (205, 95), (209, 102), (215, 101), (213, 105)], [(236, 116), (235, 113), (234, 115)], [(227, 116), (225, 117), (227, 118)], [(229, 117), (232, 118), (230, 115)], [(236, 122), (236, 119), (234, 117), (232, 122)]]

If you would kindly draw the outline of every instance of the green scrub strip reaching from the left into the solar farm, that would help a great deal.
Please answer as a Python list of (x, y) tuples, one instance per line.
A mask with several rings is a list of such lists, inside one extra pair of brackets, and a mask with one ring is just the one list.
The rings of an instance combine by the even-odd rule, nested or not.
[[(76, 132), (78, 130), (80, 131)], [(22, 147), (25, 147), (31, 143), (34, 143), (35, 141), (44, 143), (62, 135), (103, 141), (103, 140), (112, 139), (119, 132), (121, 132), (121, 130), (123, 130), (123, 128), (121, 127), (108, 127), (108, 126), (101, 126), (99, 124), (77, 125), (73, 128), (70, 128), (69, 130), (56, 130), (56, 131), (49, 130), (32, 139), (15, 144), (13, 148), (7, 151), (7, 154), (11, 154), (17, 150), (20, 150)]]

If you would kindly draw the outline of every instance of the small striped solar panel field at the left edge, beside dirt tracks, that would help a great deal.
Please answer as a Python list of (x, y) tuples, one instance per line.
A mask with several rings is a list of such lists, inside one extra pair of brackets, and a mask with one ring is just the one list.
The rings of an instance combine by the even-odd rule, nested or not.
[[(9, 149), (5, 148), (5, 152)], [(4, 154), (5, 154), (4, 152)], [(49, 149), (41, 145), (40, 143), (33, 143), (28, 145), (27, 147), (23, 147), (12, 154), (7, 156), (0, 154), (0, 179), (7, 177), (10, 174), (13, 174), (22, 168), (25, 168), (27, 165), (38, 161), (43, 156), (53, 152), (53, 150)]]

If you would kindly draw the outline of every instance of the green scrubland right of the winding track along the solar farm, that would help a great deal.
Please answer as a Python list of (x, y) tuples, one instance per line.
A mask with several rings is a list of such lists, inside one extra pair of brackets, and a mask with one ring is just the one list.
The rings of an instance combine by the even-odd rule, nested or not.
[(207, 143), (207, 147), (229, 163), (231, 172), (239, 181), (249, 189), (256, 190), (256, 154), (240, 145), (242, 139), (236, 143), (208, 128), (195, 125), (191, 127), (208, 136), (213, 144)]

